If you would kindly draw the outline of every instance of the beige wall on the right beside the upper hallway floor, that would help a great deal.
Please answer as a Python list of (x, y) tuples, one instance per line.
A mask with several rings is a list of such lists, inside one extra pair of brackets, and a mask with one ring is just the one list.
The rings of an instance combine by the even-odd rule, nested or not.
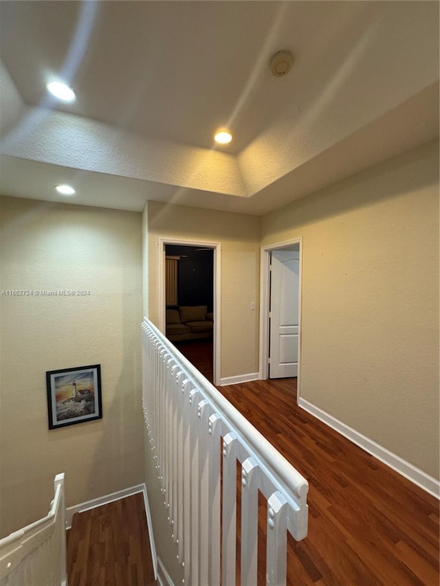
[(303, 236), (300, 393), (439, 477), (439, 152), (428, 144), (263, 217)]

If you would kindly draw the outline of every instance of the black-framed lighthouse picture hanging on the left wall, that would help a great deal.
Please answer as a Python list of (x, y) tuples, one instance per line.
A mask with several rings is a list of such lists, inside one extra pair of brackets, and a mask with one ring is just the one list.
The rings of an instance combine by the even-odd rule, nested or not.
[(46, 372), (49, 429), (102, 418), (101, 365)]

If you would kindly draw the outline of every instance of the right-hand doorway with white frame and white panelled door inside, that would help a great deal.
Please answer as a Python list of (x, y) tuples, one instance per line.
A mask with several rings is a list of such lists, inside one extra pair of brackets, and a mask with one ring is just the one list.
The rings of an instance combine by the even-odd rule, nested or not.
[(292, 378), (300, 395), (302, 239), (261, 249), (261, 379)]

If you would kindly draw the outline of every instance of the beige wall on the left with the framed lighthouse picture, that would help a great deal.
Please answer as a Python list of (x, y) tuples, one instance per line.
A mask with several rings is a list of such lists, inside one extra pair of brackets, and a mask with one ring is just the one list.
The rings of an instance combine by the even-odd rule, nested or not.
[[(141, 214), (1, 198), (1, 534), (46, 515), (66, 473), (67, 506), (143, 482)], [(102, 420), (47, 428), (45, 372), (100, 363)]]

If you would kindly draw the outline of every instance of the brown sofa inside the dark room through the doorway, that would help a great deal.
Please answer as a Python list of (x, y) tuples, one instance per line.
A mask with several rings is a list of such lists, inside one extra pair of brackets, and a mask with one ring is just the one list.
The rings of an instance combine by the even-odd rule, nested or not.
[(166, 337), (172, 341), (211, 338), (214, 315), (206, 305), (180, 306), (166, 309)]

